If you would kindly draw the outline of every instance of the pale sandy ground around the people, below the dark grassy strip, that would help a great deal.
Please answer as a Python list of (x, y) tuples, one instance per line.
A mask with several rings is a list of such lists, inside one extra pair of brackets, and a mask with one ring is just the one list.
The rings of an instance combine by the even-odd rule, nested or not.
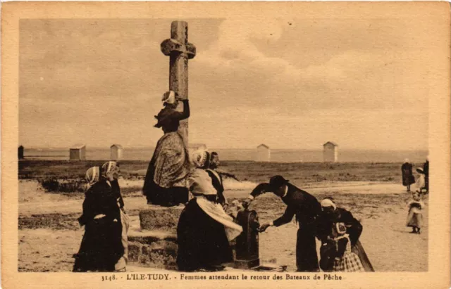
[[(137, 188), (141, 180), (121, 180), (121, 188)], [(225, 184), (229, 200), (245, 198), (254, 183)], [(306, 188), (307, 187), (307, 188)], [(375, 181), (318, 182), (304, 186), (321, 198), (333, 195), (339, 207), (361, 219), (364, 231), (360, 238), (376, 271), (427, 271), (428, 269), (428, 199), (424, 199), (425, 226), (421, 235), (409, 233), (405, 226), (406, 203), (410, 195), (400, 184)], [(128, 193), (125, 207), (136, 218), (146, 207), (139, 190)], [(285, 210), (282, 201), (267, 193), (254, 200), (252, 210), (260, 222), (271, 221)], [(78, 251), (83, 228), (77, 218), (82, 211), (82, 194), (77, 197), (46, 193), (37, 181), (19, 181), (19, 271), (70, 271), (73, 254)], [(262, 262), (288, 265), (295, 271), (297, 226), (292, 222), (271, 227), (259, 237)]]

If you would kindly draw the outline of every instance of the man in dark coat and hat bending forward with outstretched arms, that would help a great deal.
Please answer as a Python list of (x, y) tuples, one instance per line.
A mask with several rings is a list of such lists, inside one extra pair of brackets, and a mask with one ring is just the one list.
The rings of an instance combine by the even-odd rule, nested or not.
[(268, 191), (278, 195), (283, 203), (287, 205), (285, 213), (278, 219), (269, 224), (260, 226), (261, 232), (266, 231), (269, 226), (281, 226), (289, 223), (293, 217), (299, 223), (296, 242), (296, 266), (299, 272), (319, 271), (318, 256), (316, 255), (316, 219), (321, 214), (321, 205), (313, 195), (293, 186), (283, 176), (271, 177), (269, 184), (259, 184), (251, 195), (249, 200), (243, 203), (248, 206), (250, 200), (257, 195)]

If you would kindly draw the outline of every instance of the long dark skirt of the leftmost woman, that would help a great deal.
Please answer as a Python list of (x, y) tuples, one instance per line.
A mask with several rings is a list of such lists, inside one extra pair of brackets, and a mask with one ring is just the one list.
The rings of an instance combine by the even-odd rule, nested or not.
[(121, 221), (106, 217), (89, 221), (85, 226), (80, 250), (75, 255), (73, 271), (114, 271), (124, 254)]

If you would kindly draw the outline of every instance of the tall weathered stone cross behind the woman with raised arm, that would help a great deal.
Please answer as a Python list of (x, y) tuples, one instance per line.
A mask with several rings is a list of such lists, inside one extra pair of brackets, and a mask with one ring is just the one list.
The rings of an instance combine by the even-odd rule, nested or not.
[[(169, 90), (180, 98), (188, 98), (188, 59), (196, 56), (196, 46), (188, 43), (188, 23), (173, 21), (171, 39), (161, 42), (161, 52), (169, 56)], [(182, 120), (178, 129), (185, 145), (188, 144), (188, 120)]]

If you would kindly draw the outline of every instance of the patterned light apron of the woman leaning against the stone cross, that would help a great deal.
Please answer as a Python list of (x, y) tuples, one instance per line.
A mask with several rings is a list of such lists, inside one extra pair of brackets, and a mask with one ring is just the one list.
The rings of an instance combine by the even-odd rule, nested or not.
[(162, 188), (171, 188), (174, 184), (180, 184), (190, 169), (190, 161), (182, 136), (177, 131), (161, 136), (151, 162), (154, 167), (155, 184)]

